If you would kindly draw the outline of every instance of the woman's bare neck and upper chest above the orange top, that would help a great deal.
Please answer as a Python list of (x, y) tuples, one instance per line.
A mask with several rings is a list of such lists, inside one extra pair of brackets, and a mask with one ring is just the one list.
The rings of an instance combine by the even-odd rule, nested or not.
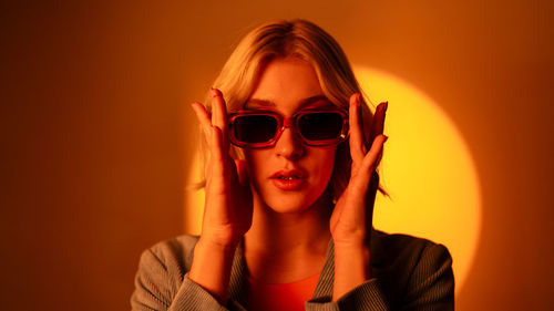
[(286, 283), (317, 274), (330, 239), (330, 203), (319, 199), (301, 212), (280, 214), (254, 199), (245, 259), (250, 276), (267, 283)]

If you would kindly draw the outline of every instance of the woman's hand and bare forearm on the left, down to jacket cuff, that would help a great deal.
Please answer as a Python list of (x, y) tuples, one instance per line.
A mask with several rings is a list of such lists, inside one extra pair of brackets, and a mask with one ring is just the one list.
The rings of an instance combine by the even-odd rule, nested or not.
[(253, 198), (244, 162), (229, 156), (227, 110), (223, 94), (212, 89), (212, 115), (193, 104), (206, 141), (206, 201), (202, 235), (194, 248), (188, 279), (225, 305), (235, 249), (252, 225)]

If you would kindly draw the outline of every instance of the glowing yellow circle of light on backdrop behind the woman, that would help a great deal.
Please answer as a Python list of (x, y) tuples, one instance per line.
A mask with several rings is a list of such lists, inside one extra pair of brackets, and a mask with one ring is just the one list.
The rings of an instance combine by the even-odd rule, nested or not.
[(383, 72), (355, 71), (375, 105), (389, 102), (381, 184), (391, 198), (377, 197), (375, 227), (445, 245), (458, 291), (481, 226), (479, 178), (470, 151), (455, 125), (422, 92)]

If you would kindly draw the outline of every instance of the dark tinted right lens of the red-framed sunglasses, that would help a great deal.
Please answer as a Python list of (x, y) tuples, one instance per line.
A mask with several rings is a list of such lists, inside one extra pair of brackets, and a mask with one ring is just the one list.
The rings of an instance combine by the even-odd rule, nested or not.
[(342, 131), (342, 116), (336, 112), (317, 112), (298, 120), (302, 136), (310, 141), (335, 139)]

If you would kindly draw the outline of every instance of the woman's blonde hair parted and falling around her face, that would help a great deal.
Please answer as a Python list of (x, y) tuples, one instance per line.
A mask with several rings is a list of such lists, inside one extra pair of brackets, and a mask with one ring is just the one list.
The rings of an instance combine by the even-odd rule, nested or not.
[[(317, 73), (324, 95), (337, 106), (348, 108), (350, 95), (362, 93), (345, 52), (331, 35), (306, 20), (279, 20), (264, 23), (246, 34), (215, 80), (214, 87), (223, 92), (227, 111), (243, 108), (254, 92), (264, 65), (286, 56), (309, 62)], [(205, 101), (208, 111), (209, 97)], [(367, 139), (373, 114), (367, 105), (362, 105), (362, 114)], [(205, 141), (202, 148), (203, 163), (206, 163)], [(244, 158), (242, 149), (235, 146), (230, 155)], [(337, 199), (347, 187), (350, 167), (350, 147), (348, 143), (342, 143), (337, 147), (334, 173), (328, 185), (332, 199)], [(379, 190), (386, 194), (381, 187)]]

